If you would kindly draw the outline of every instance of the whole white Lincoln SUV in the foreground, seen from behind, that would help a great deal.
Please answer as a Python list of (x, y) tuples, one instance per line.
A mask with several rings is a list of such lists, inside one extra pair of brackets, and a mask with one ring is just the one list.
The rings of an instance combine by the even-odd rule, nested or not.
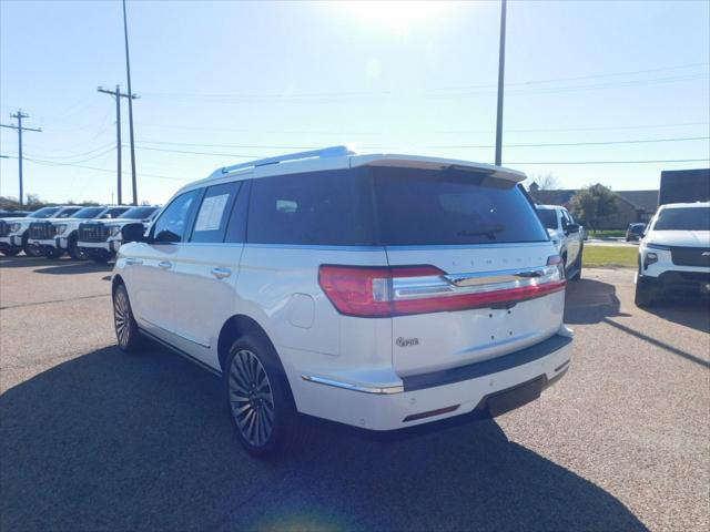
[(571, 354), (524, 178), (341, 146), (219, 168), (123, 227), (119, 346), (146, 336), (222, 376), (255, 456), (300, 413), (388, 431), (519, 407)]

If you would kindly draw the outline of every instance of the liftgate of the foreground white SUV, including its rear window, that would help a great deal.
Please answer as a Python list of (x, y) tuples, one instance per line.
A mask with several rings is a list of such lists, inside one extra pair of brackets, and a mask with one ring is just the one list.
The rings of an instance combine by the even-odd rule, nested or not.
[(514, 182), (456, 170), (373, 175), (398, 375), (501, 356), (558, 330), (564, 279), (548, 265), (556, 250)]

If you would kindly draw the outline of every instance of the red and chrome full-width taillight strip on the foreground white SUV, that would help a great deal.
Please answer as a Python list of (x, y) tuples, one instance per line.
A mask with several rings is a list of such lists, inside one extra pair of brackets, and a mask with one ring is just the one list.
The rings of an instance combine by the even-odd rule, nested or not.
[(338, 313), (390, 317), (516, 303), (565, 288), (558, 256), (530, 270), (447, 275), (435, 266), (323, 265), (318, 283)]

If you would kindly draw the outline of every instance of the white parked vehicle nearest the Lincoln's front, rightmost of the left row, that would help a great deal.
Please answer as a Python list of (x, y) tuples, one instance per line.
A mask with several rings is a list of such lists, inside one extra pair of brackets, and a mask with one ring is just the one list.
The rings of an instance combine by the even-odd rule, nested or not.
[(129, 208), (115, 219), (97, 219), (79, 225), (78, 246), (81, 253), (95, 263), (111, 260), (121, 244), (121, 229), (126, 224), (142, 223), (144, 227), (153, 219), (160, 207), (141, 206)]

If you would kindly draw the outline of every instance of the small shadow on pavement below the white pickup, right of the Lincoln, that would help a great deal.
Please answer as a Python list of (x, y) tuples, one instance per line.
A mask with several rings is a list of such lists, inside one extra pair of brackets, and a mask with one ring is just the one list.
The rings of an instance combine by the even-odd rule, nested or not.
[(565, 323), (598, 324), (609, 316), (628, 316), (619, 313), (620, 305), (616, 288), (609, 283), (584, 278), (568, 283)]

